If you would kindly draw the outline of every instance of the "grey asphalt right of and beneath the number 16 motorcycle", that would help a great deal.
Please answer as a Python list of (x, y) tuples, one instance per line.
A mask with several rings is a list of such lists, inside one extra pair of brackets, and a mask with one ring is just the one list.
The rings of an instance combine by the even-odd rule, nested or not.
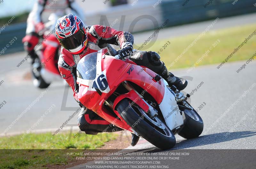
[[(217, 69), (216, 65), (203, 66), (194, 69), (188, 77), (190, 80), (187, 93), (191, 91), (203, 81), (204, 84), (191, 96), (191, 104), (198, 109), (199, 115), (204, 121), (204, 131), (200, 137), (194, 139), (184, 139), (176, 135), (176, 145), (171, 150), (160, 150), (154, 145), (148, 143), (144, 139), (140, 139), (134, 147), (130, 146), (126, 150), (128, 155), (117, 155), (113, 159), (120, 157), (156, 157), (153, 155), (137, 155), (138, 153), (189, 153), (188, 156), (170, 156), (179, 157), (172, 160), (128, 160), (160, 162), (155, 165), (159, 168), (254, 168), (255, 167), (255, 151), (253, 150), (237, 150), (237, 149), (256, 149), (256, 123), (255, 110), (252, 108), (256, 102), (253, 99), (256, 94), (256, 79), (254, 77), (255, 63), (246, 67), (239, 74), (236, 73), (237, 67), (244, 64), (242, 62), (233, 62), (225, 65), (221, 69)], [(175, 73), (185, 75), (186, 70), (179, 70)], [(201, 83), (202, 84), (202, 83)], [(250, 88), (250, 89), (249, 89)], [(248, 91), (249, 90), (249, 91)], [(194, 90), (195, 91), (195, 90)], [(247, 92), (246, 92), (247, 91)], [(242, 96), (244, 95), (244, 97)], [(241, 97), (242, 96), (242, 97)], [(240, 99), (239, 99), (240, 98)], [(199, 110), (200, 104), (206, 105)], [(233, 104), (233, 106), (232, 106)], [(231, 108), (232, 107), (232, 108)], [(123, 135), (125, 139), (126, 135)], [(121, 138), (121, 137), (120, 137)], [(122, 139), (120, 139), (122, 141)], [(221, 149), (221, 150), (220, 150)], [(229, 150), (228, 150), (229, 149)], [(231, 149), (231, 150), (230, 150)], [(130, 155), (134, 153), (135, 155)], [(167, 157), (158, 155), (157, 157)], [(127, 160), (96, 160), (104, 162), (105, 165)], [(110, 162), (110, 163), (109, 163)], [(101, 163), (95, 161), (77, 165), (70, 169), (85, 169), (90, 167), (97, 168)], [(111, 165), (112, 164), (112, 165)], [(138, 165), (130, 165), (130, 168), (149, 167), (138, 163)], [(109, 167), (110, 168), (110, 167)]]

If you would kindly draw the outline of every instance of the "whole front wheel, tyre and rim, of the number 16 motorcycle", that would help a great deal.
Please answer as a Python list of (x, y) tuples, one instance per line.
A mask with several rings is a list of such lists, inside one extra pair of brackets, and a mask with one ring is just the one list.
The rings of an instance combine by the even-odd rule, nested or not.
[(169, 129), (157, 116), (149, 117), (138, 105), (130, 100), (120, 101), (116, 110), (141, 137), (160, 149), (170, 149), (176, 144), (172, 130)]

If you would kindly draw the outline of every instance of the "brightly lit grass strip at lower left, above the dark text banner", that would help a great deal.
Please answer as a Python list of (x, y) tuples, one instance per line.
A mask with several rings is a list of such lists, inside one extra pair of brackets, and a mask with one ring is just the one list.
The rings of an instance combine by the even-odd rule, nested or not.
[(75, 134), (58, 133), (53, 137), (52, 133), (30, 133), (24, 138), (21, 135), (0, 137), (0, 149), (95, 149), (116, 139), (113, 133), (86, 135), (83, 132), (74, 138)]

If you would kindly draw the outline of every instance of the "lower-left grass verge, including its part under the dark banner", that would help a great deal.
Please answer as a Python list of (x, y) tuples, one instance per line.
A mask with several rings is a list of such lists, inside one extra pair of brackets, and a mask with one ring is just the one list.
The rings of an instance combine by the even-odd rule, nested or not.
[(0, 149), (5, 149), (0, 150), (0, 169), (45, 169), (47, 165), (67, 164), (75, 157), (67, 156), (64, 151), (52, 149), (68, 149), (67, 151), (71, 152), (76, 152), (76, 150), (81, 152), (81, 149), (93, 150), (104, 146), (106, 142), (117, 137), (114, 133), (85, 135), (83, 132), (74, 138), (75, 134), (58, 133), (53, 137), (52, 133), (43, 133), (28, 134), (24, 138), (21, 135), (0, 137)]

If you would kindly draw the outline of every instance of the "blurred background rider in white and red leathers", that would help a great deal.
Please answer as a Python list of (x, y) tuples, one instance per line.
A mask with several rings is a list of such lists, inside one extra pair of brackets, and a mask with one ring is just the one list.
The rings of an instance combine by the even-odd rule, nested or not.
[[(33, 10), (29, 13), (27, 19), (26, 36), (22, 39), (24, 49), (32, 59), (36, 58), (34, 47), (38, 44), (39, 34), (44, 30), (44, 23), (48, 22), (51, 13), (62, 13), (61, 16), (70, 12), (75, 13), (81, 19), (84, 19), (83, 11), (74, 0), (37, 0)], [(49, 44), (55, 42), (48, 39)]]

